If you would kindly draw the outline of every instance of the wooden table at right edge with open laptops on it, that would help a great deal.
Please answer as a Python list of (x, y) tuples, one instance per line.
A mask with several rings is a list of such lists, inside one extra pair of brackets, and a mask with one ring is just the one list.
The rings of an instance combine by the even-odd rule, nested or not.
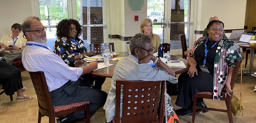
[[(232, 39), (235, 42), (238, 42), (239, 39)], [(253, 60), (254, 60), (254, 51), (256, 48), (256, 43), (248, 43), (246, 45), (238, 45), (239, 47), (242, 48), (251, 48), (251, 57), (250, 57), (250, 62), (249, 62), (249, 70), (248, 72), (244, 72), (245, 74), (243, 75), (247, 75), (247, 76), (254, 76), (256, 77), (256, 75), (254, 73), (252, 73), (252, 69), (253, 69)]]

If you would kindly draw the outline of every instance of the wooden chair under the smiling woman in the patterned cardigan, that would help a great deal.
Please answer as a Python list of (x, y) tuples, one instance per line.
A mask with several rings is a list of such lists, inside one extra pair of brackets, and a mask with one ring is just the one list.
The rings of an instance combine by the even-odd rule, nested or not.
[[(234, 71), (232, 73), (232, 78), (231, 78), (231, 89), (233, 90), (234, 88), (234, 84), (236, 82), (236, 78), (237, 78), (237, 73), (238, 70), (240, 68), (241, 62), (244, 59), (244, 57), (242, 57), (241, 60), (237, 60), (236, 61), (236, 66), (234, 68)], [(230, 93), (230, 95), (233, 95), (233, 93)], [(233, 118), (232, 118), (232, 113), (231, 113), (231, 97), (227, 96), (222, 97), (220, 100), (224, 100), (226, 102), (226, 107), (227, 109), (217, 109), (217, 108), (208, 108), (208, 107), (198, 107), (196, 106), (196, 99), (197, 98), (204, 98), (204, 99), (212, 99), (213, 98), (213, 92), (200, 92), (200, 93), (196, 93), (193, 97), (193, 116), (192, 116), (192, 123), (195, 122), (195, 116), (196, 116), (196, 109), (203, 109), (203, 110), (211, 110), (211, 111), (220, 111), (220, 112), (227, 112), (227, 117), (229, 118), (229, 123), (233, 123)]]

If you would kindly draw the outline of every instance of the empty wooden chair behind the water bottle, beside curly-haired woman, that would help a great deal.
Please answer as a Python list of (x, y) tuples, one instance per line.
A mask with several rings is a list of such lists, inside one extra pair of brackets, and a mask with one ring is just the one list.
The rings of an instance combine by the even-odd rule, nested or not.
[(111, 52), (115, 51), (114, 43), (95, 43), (90, 44), (90, 49), (97, 51), (96, 54), (103, 54), (105, 49), (109, 49)]

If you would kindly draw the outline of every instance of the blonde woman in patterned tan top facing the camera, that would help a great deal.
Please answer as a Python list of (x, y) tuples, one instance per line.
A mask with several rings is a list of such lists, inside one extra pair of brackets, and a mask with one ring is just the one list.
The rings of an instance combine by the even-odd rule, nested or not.
[(161, 42), (161, 39), (160, 39), (159, 35), (153, 34), (152, 25), (153, 25), (153, 23), (150, 19), (146, 18), (146, 19), (142, 20), (142, 22), (140, 23), (139, 32), (141, 34), (150, 35), (151, 41), (153, 42), (153, 46), (155, 47), (154, 53), (156, 53), (158, 51), (158, 47), (159, 47), (159, 43)]

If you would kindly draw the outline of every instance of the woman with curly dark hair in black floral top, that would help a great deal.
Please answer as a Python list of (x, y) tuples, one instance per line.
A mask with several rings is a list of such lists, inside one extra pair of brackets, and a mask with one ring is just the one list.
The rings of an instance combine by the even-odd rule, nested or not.
[[(70, 67), (75, 67), (75, 62), (83, 59), (85, 56), (92, 56), (91, 51), (87, 51), (86, 45), (79, 38), (82, 28), (75, 19), (61, 20), (56, 26), (57, 40), (54, 43), (54, 52), (59, 55), (63, 61)], [(80, 86), (89, 86), (95, 80), (95, 89), (100, 89), (104, 83), (104, 77), (95, 77), (88, 74), (81, 76), (83, 81)]]

